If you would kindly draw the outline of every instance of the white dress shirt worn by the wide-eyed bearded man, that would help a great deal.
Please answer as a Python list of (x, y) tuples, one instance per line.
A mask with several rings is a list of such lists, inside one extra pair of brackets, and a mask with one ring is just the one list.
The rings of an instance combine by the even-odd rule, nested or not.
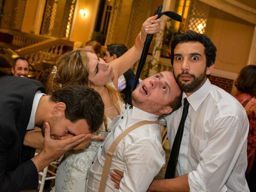
[[(188, 174), (191, 192), (247, 192), (249, 122), (243, 106), (207, 79), (189, 97), (176, 174)], [(164, 117), (170, 146), (182, 116), (182, 108)]]

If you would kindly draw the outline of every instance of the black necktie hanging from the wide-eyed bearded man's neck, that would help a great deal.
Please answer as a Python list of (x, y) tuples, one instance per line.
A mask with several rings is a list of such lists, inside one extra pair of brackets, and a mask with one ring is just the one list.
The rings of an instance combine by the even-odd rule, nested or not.
[(182, 116), (180, 120), (180, 124), (177, 130), (177, 133), (174, 138), (174, 142), (172, 144), (172, 150), (170, 154), (170, 159), (167, 164), (166, 172), (165, 172), (165, 179), (172, 179), (175, 177), (175, 170), (178, 162), (178, 156), (180, 152), (180, 144), (182, 140), (182, 134), (184, 130), (184, 124), (188, 115), (188, 107), (189, 107), (189, 102), (187, 98), (184, 98), (184, 107), (182, 111)]

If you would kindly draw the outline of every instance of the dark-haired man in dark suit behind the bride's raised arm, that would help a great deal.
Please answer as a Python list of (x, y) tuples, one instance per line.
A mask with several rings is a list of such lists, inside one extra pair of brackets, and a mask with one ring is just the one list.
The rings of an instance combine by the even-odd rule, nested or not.
[[(110, 63), (122, 56), (127, 50), (127, 47), (123, 44), (109, 44), (107, 45), (107, 50), (103, 59), (106, 63)], [(127, 102), (127, 97), (130, 94), (134, 78), (135, 73), (131, 68), (118, 78), (118, 91), (124, 97), (123, 99), (125, 102)], [(141, 80), (139, 80), (139, 82), (141, 82)]]

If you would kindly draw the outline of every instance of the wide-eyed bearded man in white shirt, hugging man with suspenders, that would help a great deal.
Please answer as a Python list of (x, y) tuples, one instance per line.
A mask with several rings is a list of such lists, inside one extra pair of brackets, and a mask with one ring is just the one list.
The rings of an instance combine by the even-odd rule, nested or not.
[[(244, 176), (248, 118), (234, 97), (208, 80), (215, 58), (216, 47), (204, 34), (189, 30), (172, 41), (171, 62), (183, 94), (182, 108), (164, 117), (170, 146), (178, 130), (184, 98), (189, 102), (188, 116), (176, 178), (154, 180), (149, 191), (249, 191)], [(118, 184), (120, 178), (114, 179)]]

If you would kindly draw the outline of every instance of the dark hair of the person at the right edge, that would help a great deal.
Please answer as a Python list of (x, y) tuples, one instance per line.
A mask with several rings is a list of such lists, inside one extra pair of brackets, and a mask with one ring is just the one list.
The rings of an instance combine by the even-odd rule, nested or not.
[(256, 96), (256, 65), (242, 68), (235, 81), (237, 90)]

